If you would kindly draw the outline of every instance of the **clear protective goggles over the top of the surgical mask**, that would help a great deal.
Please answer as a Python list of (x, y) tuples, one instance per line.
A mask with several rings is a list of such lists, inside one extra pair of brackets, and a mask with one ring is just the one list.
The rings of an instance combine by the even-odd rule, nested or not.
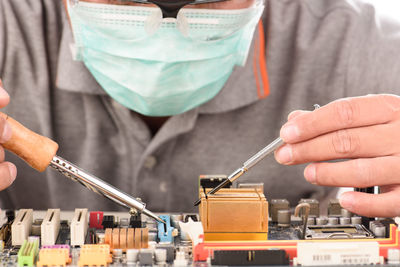
[[(196, 41), (219, 41), (242, 29), (264, 9), (264, 0), (69, 0), (74, 14), (96, 28), (135, 29), (129, 40), (177, 28)], [(129, 30), (128, 30), (129, 29)]]

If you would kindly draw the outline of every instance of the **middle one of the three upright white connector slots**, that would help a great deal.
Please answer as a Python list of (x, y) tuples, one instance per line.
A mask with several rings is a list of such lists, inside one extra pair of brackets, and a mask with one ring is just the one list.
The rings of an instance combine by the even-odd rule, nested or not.
[(54, 245), (60, 231), (60, 209), (48, 209), (40, 228), (42, 246)]

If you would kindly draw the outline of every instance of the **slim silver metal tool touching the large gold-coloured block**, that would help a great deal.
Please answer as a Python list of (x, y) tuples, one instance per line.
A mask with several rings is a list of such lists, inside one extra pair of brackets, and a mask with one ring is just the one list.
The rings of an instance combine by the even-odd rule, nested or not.
[[(212, 195), (215, 194), (217, 191), (219, 191), (221, 188), (226, 186), (229, 183), (233, 183), (236, 179), (238, 179), (240, 176), (242, 176), (245, 172), (250, 170), (254, 165), (259, 163), (261, 160), (263, 160), (267, 155), (269, 155), (271, 152), (274, 152), (278, 147), (283, 145), (283, 140), (278, 137), (274, 141), (272, 141), (270, 144), (268, 144), (266, 147), (261, 149), (257, 154), (252, 156), (249, 160), (247, 160), (245, 163), (243, 163), (243, 166), (233, 173), (228, 176), (228, 179), (220, 183), (218, 186), (214, 187), (211, 191), (206, 193), (206, 195)], [(201, 199), (198, 199), (194, 205), (197, 206), (201, 202)]]

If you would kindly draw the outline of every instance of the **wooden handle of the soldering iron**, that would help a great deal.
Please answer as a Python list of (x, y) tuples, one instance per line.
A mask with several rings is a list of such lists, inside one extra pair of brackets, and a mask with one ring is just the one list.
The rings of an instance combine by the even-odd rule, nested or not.
[(7, 114), (0, 112), (0, 116), (6, 119), (12, 129), (11, 139), (1, 145), (25, 160), (32, 168), (40, 172), (46, 170), (57, 153), (58, 144), (25, 128)]

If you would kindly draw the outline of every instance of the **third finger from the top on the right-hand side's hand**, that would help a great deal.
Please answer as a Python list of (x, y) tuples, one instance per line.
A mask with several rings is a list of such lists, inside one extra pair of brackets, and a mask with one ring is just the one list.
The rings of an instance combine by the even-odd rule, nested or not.
[(360, 188), (397, 184), (399, 173), (399, 157), (311, 163), (304, 169), (304, 177), (312, 184)]

